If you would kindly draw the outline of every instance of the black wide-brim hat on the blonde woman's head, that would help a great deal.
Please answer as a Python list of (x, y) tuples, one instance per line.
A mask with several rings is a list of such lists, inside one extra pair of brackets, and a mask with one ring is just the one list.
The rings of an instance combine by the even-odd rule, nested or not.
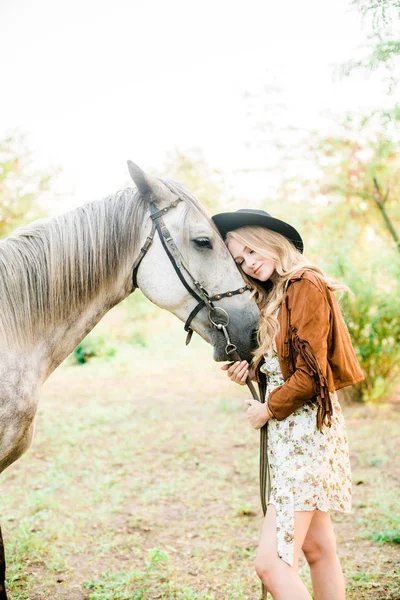
[(219, 213), (211, 217), (217, 226), (218, 231), (223, 238), (226, 237), (228, 231), (234, 231), (239, 227), (247, 227), (248, 225), (256, 225), (257, 227), (266, 227), (271, 231), (276, 231), (283, 235), (289, 242), (297, 248), (299, 252), (303, 252), (304, 244), (299, 232), (280, 219), (271, 217), (265, 210), (256, 208), (240, 208), (233, 213)]

